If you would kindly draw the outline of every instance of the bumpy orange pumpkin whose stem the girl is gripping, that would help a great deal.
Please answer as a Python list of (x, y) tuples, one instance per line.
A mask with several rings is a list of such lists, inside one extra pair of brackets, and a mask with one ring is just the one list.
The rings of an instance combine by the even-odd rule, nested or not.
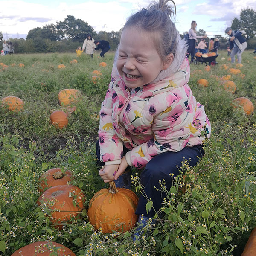
[(101, 227), (103, 233), (126, 232), (137, 222), (138, 197), (130, 189), (116, 188), (113, 181), (110, 186), (109, 190), (101, 189), (90, 200), (88, 219), (95, 230)]

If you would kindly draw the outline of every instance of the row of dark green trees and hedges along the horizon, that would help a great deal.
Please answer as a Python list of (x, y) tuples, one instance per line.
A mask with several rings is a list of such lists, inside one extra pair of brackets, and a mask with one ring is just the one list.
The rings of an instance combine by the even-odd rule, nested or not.
[[(240, 13), (240, 19), (233, 19), (231, 28), (246, 32), (247, 49), (256, 47), (256, 12), (253, 9), (243, 9)], [(198, 35), (204, 35), (205, 33), (203, 29), (198, 31)], [(64, 21), (58, 21), (56, 24), (30, 30), (26, 40), (23, 38), (10, 38), (9, 41), (12, 41), (15, 53), (74, 52), (78, 46), (82, 46), (88, 34), (92, 35), (96, 40), (109, 41), (113, 51), (116, 50), (119, 44), (120, 31), (100, 31), (96, 33), (87, 22), (76, 19), (72, 15), (68, 15)], [(180, 35), (181, 38), (184, 35), (185, 33)], [(228, 37), (221, 35), (214, 35), (214, 37), (219, 39), (220, 49), (227, 49)], [(2, 40), (3, 34), (0, 31), (0, 41)]]

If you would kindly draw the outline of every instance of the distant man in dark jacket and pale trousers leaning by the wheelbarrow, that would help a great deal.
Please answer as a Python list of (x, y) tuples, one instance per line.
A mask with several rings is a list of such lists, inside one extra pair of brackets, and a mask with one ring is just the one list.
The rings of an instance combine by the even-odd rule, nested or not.
[(235, 62), (235, 55), (237, 54), (237, 61), (238, 63), (242, 62), (242, 53), (247, 47), (247, 42), (245, 41), (245, 38), (242, 35), (242, 32), (239, 30), (232, 30), (230, 27), (228, 27), (225, 32), (230, 36), (229, 42), (230, 42), (230, 50), (231, 54), (231, 63)]

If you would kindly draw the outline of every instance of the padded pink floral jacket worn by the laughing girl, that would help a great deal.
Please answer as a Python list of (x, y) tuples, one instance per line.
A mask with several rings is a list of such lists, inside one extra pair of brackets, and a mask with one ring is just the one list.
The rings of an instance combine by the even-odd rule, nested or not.
[(211, 125), (187, 84), (189, 76), (185, 58), (176, 73), (132, 90), (113, 77), (100, 111), (100, 160), (121, 163), (125, 145), (131, 150), (128, 164), (143, 168), (157, 154), (201, 145), (201, 131), (209, 137)]

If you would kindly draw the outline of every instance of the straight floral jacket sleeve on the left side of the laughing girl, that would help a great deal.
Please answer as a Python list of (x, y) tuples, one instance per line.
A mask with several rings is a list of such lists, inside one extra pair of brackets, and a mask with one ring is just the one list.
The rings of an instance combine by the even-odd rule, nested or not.
[(99, 112), (99, 147), (100, 147), (100, 160), (105, 164), (119, 164), (123, 157), (123, 144), (122, 140), (116, 135), (112, 123), (112, 95), (113, 84), (109, 84), (106, 96), (102, 102), (101, 110)]

